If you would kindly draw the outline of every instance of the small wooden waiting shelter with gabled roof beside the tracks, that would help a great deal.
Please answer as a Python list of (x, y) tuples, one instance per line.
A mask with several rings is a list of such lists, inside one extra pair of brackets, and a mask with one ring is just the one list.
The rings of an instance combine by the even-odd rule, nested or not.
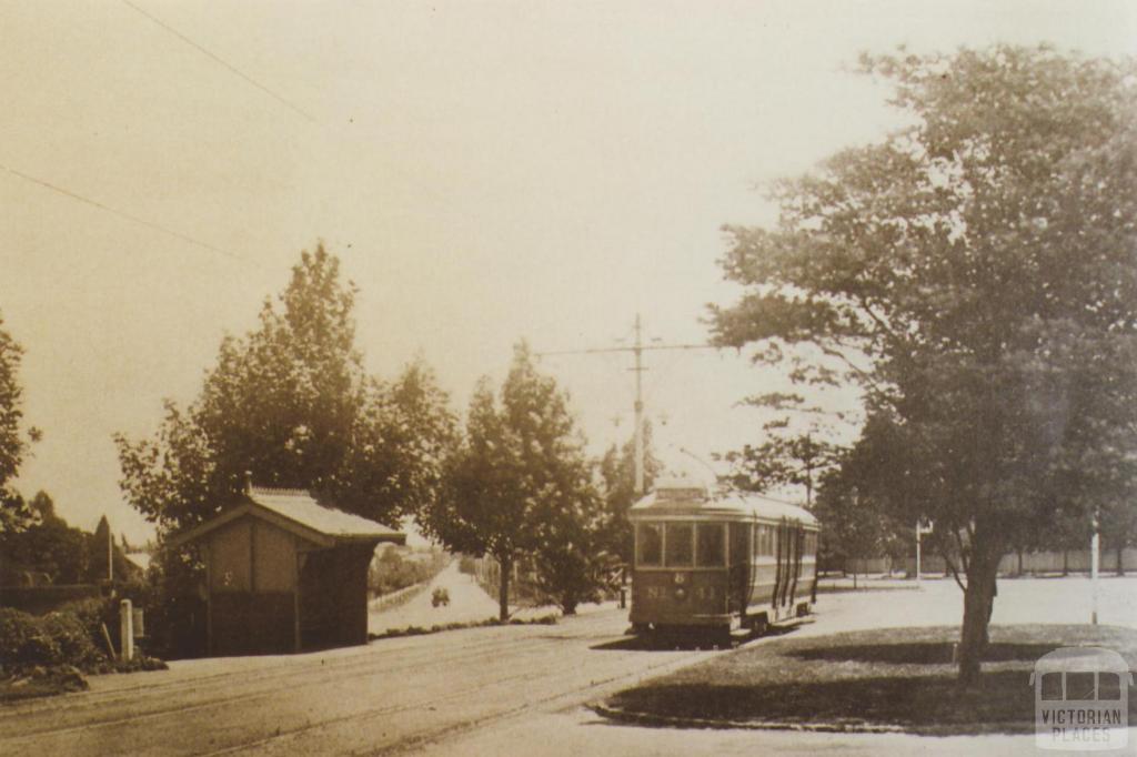
[(246, 488), (241, 501), (176, 535), (206, 564), (206, 654), (264, 655), (367, 642), (367, 568), (406, 534), (317, 502)]

